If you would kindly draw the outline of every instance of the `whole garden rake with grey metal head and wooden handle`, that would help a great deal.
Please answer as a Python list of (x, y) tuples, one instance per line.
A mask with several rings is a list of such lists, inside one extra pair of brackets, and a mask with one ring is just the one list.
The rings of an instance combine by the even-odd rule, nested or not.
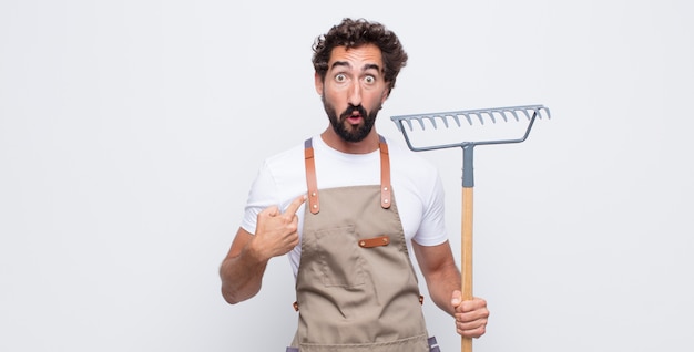
[[(550, 118), (549, 108), (543, 105), (509, 106), (483, 110), (467, 110), (455, 112), (442, 112), (431, 114), (400, 115), (391, 116), (398, 130), (402, 133), (407, 146), (415, 152), (443, 149), (451, 147), (462, 148), (462, 219), (461, 219), (461, 282), (462, 299), (470, 300), (472, 296), (472, 189), (474, 187), (473, 177), (473, 151), (478, 145), (521, 143), (528, 138), (530, 130), (535, 118), (542, 115)], [(503, 124), (497, 124), (503, 122)], [(453, 124), (455, 123), (455, 124)], [(486, 128), (489, 123), (493, 128)], [(509, 123), (509, 124), (506, 124)], [(448, 138), (456, 142), (431, 144), (427, 138), (427, 127), (429, 131), (439, 126), (453, 131)], [(501, 127), (503, 125), (510, 127)], [(458, 142), (460, 130), (468, 131), (474, 139)], [(484, 130), (491, 131), (484, 133)], [(492, 131), (493, 130), (493, 131)], [(437, 141), (438, 138), (437, 136)], [(451, 139), (453, 141), (453, 139)], [(417, 144), (417, 145), (416, 145)], [(472, 351), (472, 339), (462, 338), (462, 352)]]

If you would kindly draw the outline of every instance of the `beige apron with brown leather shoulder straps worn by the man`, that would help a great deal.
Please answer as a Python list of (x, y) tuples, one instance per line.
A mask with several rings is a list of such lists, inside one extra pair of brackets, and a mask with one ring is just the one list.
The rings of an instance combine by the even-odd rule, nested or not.
[(296, 281), (302, 352), (429, 352), (421, 296), (390, 189), (381, 137), (381, 185), (318, 189), (306, 141), (308, 201)]

